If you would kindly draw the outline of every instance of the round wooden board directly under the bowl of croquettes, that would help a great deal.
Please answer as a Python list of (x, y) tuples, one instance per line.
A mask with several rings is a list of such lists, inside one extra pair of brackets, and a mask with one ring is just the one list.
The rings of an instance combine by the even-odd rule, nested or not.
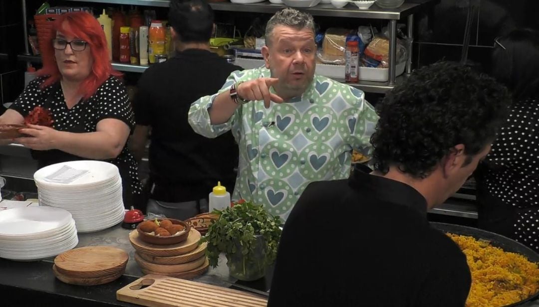
[(133, 248), (135, 248), (135, 250), (139, 252), (139, 254), (160, 257), (187, 254), (197, 248), (198, 241), (200, 240), (201, 234), (195, 229), (191, 229), (187, 240), (172, 245), (153, 245), (146, 243), (139, 239), (139, 233), (136, 231), (136, 229), (129, 233), (129, 241), (131, 242)]

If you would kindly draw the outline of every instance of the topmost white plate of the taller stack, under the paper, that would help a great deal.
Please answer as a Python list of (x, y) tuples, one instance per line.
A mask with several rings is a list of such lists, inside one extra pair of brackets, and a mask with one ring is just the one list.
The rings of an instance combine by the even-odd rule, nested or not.
[[(87, 173), (86, 175), (80, 178), (77, 178), (72, 183), (68, 183), (68, 184), (47, 182), (45, 180), (45, 177), (58, 171), (64, 165), (70, 166), (71, 168), (78, 169), (78, 170), (87, 170), (89, 171), (89, 173)], [(36, 182), (43, 187), (47, 187), (47, 186), (67, 187), (69, 189), (73, 187), (84, 187), (84, 186), (91, 186), (91, 185), (99, 186), (103, 182), (107, 182), (108, 180), (116, 178), (116, 176), (119, 176), (119, 171), (116, 165), (112, 163), (103, 162), (103, 161), (84, 161), (83, 160), (83, 161), (69, 161), (69, 162), (63, 162), (63, 163), (57, 163), (57, 164), (45, 166), (44, 168), (41, 168), (34, 173), (34, 180), (36, 180)]]

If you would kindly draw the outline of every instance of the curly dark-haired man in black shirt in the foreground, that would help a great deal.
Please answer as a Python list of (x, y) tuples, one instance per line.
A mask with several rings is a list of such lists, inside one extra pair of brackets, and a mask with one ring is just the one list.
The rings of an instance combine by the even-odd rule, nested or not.
[(375, 171), (310, 184), (284, 226), (269, 307), (464, 306), (465, 255), (426, 211), (457, 191), (504, 120), (507, 89), (440, 62), (379, 104)]

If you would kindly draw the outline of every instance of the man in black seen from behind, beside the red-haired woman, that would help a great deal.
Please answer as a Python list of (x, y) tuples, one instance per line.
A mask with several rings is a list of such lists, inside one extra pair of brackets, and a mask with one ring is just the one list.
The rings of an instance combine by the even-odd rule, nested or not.
[(241, 68), (210, 51), (213, 11), (204, 0), (170, 1), (169, 22), (177, 53), (149, 67), (139, 81), (132, 148), (140, 159), (151, 128), (147, 211), (184, 220), (207, 211), (218, 180), (234, 188), (238, 146), (232, 134), (198, 135), (187, 114), (192, 102), (217, 92)]

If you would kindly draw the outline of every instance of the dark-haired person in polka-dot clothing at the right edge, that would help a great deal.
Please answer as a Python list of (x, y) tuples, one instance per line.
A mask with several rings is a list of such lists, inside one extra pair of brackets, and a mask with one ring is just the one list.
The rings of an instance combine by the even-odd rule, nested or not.
[(476, 172), (478, 226), (539, 252), (539, 32), (517, 29), (495, 39), (492, 75), (513, 102)]

